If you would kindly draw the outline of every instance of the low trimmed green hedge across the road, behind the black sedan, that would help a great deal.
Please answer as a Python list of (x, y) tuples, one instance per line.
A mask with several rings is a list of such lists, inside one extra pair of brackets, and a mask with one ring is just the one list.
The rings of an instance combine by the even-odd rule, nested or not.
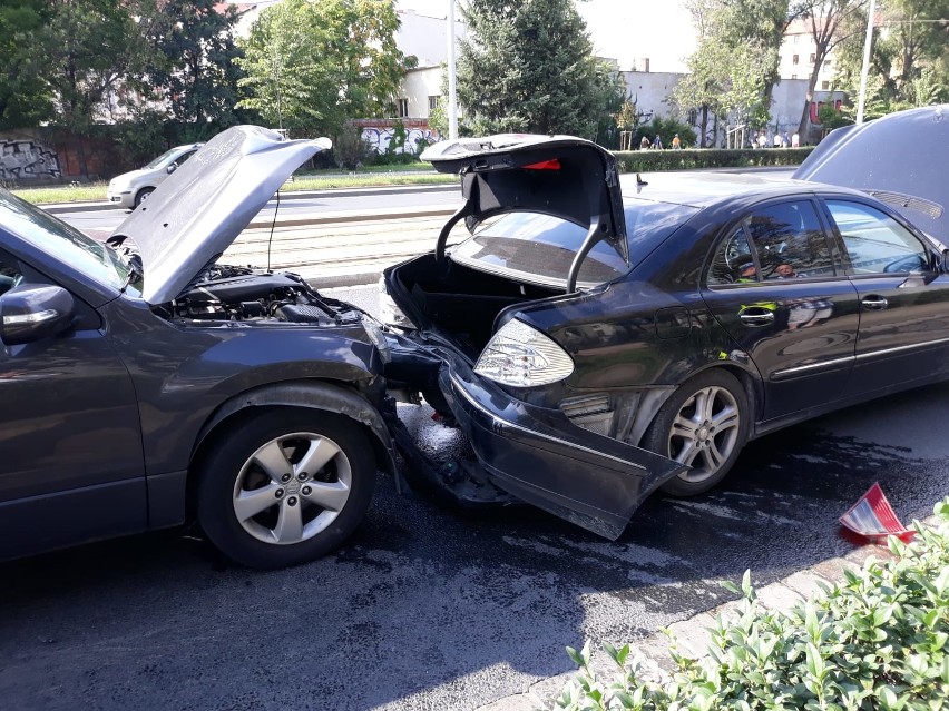
[(810, 148), (765, 148), (762, 150), (691, 148), (684, 150), (616, 151), (620, 172), (693, 170), (696, 168), (747, 168), (751, 166), (799, 166)]

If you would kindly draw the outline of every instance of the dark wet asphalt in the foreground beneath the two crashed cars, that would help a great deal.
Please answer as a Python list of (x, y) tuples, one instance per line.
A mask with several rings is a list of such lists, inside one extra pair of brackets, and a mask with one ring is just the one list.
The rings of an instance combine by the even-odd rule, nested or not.
[[(375, 293), (334, 292), (374, 308)], [(573, 666), (564, 645), (635, 641), (841, 555), (873, 482), (909, 521), (949, 491), (949, 385), (752, 443), (714, 492), (655, 496), (615, 543), (528, 507), (464, 512), (382, 475), (337, 553), (256, 573), (177, 532), (0, 565), (10, 709), (476, 709)], [(403, 409), (424, 436), (456, 436)], [(25, 531), (23, 535), (29, 535)]]

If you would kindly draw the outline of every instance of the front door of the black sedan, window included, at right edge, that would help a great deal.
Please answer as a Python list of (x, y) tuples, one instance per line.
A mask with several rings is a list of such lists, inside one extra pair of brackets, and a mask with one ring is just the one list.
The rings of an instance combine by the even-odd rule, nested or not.
[(909, 387), (949, 372), (949, 276), (933, 248), (859, 198), (824, 200), (860, 299), (848, 395)]

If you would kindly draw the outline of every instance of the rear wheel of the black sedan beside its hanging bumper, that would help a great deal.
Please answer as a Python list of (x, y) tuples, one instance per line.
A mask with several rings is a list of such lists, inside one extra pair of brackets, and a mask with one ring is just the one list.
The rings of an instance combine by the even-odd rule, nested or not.
[(695, 496), (724, 478), (745, 445), (751, 425), (747, 396), (722, 369), (687, 381), (659, 408), (643, 446), (692, 468), (663, 484), (674, 496)]

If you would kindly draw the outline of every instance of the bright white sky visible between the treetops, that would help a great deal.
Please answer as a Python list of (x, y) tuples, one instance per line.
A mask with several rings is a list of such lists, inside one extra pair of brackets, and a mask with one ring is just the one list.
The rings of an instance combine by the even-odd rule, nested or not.
[[(444, 17), (452, 0), (398, 0), (402, 10)], [(594, 49), (600, 57), (619, 61), (628, 70), (642, 58), (650, 71), (685, 71), (685, 59), (695, 50), (695, 34), (682, 0), (578, 0)], [(457, 11), (456, 11), (457, 12)]]

